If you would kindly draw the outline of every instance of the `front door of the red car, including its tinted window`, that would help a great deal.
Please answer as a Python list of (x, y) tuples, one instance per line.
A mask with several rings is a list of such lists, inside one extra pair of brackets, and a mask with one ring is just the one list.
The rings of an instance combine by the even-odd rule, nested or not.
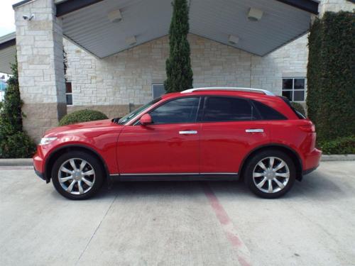
[(149, 111), (153, 123), (124, 126), (117, 157), (120, 174), (198, 174), (200, 97), (165, 101)]

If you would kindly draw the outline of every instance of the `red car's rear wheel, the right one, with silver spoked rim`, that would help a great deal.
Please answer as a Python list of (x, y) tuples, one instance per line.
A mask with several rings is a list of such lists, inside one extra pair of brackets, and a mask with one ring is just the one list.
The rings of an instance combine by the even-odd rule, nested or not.
[(249, 160), (244, 180), (251, 191), (266, 199), (286, 194), (295, 182), (293, 160), (280, 150), (264, 150)]

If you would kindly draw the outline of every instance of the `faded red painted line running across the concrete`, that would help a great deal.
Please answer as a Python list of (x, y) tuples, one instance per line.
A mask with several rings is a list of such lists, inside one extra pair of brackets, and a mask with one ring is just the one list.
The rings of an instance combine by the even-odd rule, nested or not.
[(209, 187), (206, 182), (202, 183), (202, 189), (204, 191), (204, 194), (206, 194), (207, 199), (209, 200), (209, 204), (214, 210), (214, 214), (216, 214), (219, 223), (221, 223), (222, 225), (226, 238), (229, 240), (231, 245), (236, 248), (239, 263), (242, 266), (251, 266), (251, 263), (249, 262), (248, 258), (249, 250), (243, 243), (241, 238), (239, 238), (238, 233), (236, 233), (236, 229), (234, 228), (231, 219), (224, 210), (222, 204), (217, 199), (217, 196), (214, 194), (211, 187)]

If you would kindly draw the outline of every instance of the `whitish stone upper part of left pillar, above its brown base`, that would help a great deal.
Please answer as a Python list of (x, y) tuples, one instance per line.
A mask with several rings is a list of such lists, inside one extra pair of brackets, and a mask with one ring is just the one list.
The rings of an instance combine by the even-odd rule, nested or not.
[[(35, 13), (28, 21), (23, 15)], [(51, 0), (16, 8), (16, 49), (21, 96), (26, 104), (64, 103), (62, 27)]]

